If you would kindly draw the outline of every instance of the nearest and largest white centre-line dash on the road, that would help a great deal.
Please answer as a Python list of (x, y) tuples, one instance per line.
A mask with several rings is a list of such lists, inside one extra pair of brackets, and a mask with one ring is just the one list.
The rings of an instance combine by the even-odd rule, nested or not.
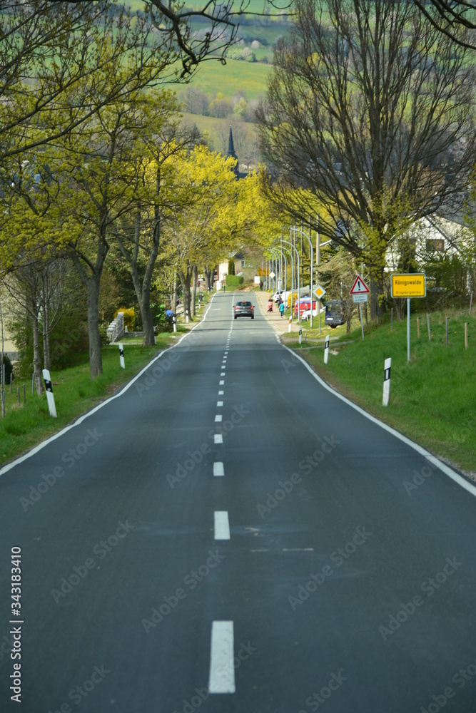
[(208, 690), (213, 693), (234, 693), (235, 665), (232, 621), (214, 621), (211, 625), (210, 676)]

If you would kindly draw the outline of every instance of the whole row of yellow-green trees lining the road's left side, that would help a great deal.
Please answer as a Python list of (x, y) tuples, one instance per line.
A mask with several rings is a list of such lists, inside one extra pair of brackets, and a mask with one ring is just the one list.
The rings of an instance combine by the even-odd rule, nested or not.
[[(108, 255), (127, 266), (153, 344), (159, 255), (183, 286), (256, 232), (255, 176), (178, 123), (164, 84), (181, 48), (156, 15), (111, 2), (10, 4), (3, 22), (0, 266), (31, 322), (40, 388), (71, 282), (86, 294), (91, 378), (101, 374), (99, 294)], [(253, 232), (253, 234), (254, 234)]]

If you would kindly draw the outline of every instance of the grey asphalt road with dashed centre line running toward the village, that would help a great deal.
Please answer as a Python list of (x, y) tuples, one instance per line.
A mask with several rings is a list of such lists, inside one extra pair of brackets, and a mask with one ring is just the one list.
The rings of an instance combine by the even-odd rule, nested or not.
[(0, 709), (472, 713), (474, 486), (232, 301), (0, 470)]

